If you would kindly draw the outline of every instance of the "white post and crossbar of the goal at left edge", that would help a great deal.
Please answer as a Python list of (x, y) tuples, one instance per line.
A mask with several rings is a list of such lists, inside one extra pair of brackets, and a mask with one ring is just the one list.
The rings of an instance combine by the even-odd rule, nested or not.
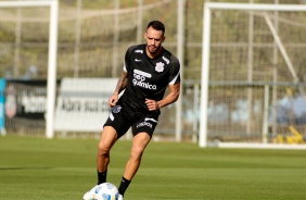
[(53, 138), (56, 88), (59, 0), (0, 1), (0, 8), (50, 8), (46, 137)]

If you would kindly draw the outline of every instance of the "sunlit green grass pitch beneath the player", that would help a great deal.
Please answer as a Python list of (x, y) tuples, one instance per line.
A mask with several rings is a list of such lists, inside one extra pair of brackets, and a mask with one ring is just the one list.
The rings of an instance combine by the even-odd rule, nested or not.
[[(0, 200), (80, 200), (97, 183), (94, 139), (0, 137)], [(118, 186), (130, 141), (118, 141), (107, 182)], [(151, 142), (125, 200), (306, 199), (306, 151), (201, 149)]]

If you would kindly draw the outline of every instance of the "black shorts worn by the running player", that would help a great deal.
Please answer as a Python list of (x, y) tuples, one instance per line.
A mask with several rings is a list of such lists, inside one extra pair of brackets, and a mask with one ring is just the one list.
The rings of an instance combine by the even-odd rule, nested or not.
[[(104, 126), (112, 126), (117, 132), (117, 138), (120, 138), (131, 127), (132, 135), (138, 133), (146, 133), (152, 137), (153, 132), (157, 125), (160, 113), (141, 112), (136, 110), (132, 105), (127, 105), (122, 101), (112, 109)], [(103, 127), (104, 127), (103, 126)]]

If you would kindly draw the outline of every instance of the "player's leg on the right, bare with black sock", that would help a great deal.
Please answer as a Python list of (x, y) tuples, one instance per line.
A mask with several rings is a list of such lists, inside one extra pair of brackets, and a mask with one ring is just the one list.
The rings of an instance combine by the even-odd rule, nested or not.
[(139, 133), (132, 139), (132, 146), (130, 151), (129, 160), (126, 164), (125, 173), (120, 186), (118, 188), (119, 193), (124, 196), (127, 187), (129, 186), (132, 177), (137, 173), (141, 158), (145, 147), (151, 140), (151, 136), (148, 133)]

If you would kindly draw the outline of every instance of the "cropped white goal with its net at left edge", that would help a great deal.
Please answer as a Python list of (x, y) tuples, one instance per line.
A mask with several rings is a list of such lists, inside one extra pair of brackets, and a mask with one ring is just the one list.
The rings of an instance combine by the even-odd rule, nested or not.
[(52, 137), (58, 10), (58, 0), (0, 1), (0, 74), (10, 133), (44, 129)]

